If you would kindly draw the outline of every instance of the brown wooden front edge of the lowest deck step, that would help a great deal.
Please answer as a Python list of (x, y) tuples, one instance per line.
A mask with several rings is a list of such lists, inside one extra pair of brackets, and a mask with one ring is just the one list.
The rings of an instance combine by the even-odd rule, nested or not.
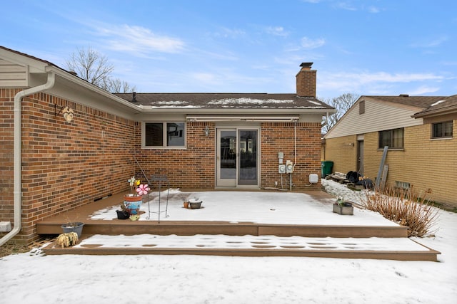
[(395, 261), (438, 261), (438, 251), (326, 251), (326, 250), (293, 250), (293, 249), (214, 249), (214, 248), (44, 248), (48, 255), (196, 255), (196, 256), (294, 256), (308, 258), (363, 258)]

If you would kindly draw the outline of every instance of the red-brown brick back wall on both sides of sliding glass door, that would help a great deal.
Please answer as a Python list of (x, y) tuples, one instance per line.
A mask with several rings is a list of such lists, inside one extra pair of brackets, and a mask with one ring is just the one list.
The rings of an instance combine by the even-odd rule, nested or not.
[[(209, 126), (209, 137), (204, 128)], [(261, 125), (261, 187), (274, 187), (281, 181), (278, 174), (278, 152), (294, 161), (293, 123), (274, 122)], [(216, 132), (214, 123), (187, 122), (185, 149), (139, 150), (137, 158), (148, 178), (152, 174), (166, 174), (171, 187), (181, 189), (214, 189), (216, 175)], [(138, 130), (139, 132), (139, 130)], [(293, 174), (294, 189), (307, 189), (308, 175), (320, 174), (321, 125), (299, 123), (297, 133), (297, 162)], [(140, 146), (140, 138), (137, 139)], [(137, 172), (142, 177), (141, 172)], [(283, 175), (288, 185), (288, 175)], [(318, 187), (318, 186), (316, 186)]]

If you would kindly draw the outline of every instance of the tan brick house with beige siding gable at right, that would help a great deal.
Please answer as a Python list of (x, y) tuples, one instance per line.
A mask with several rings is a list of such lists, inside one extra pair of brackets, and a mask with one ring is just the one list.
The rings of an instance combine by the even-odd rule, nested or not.
[(388, 184), (457, 206), (457, 95), (361, 96), (324, 136), (333, 171), (375, 180), (388, 146)]

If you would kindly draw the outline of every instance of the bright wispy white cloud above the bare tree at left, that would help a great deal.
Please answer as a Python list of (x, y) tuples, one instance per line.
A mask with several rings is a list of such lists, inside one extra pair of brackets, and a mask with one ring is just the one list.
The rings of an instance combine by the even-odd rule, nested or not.
[(184, 41), (179, 38), (161, 36), (142, 26), (105, 26), (97, 31), (106, 36), (109, 48), (132, 53), (177, 53), (184, 48)]

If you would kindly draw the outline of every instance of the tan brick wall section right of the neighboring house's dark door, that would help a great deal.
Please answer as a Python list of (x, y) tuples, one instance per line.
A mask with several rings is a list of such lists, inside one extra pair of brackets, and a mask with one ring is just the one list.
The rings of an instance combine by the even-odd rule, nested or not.
[[(453, 130), (457, 130), (457, 120), (453, 121)], [(408, 182), (418, 192), (430, 189), (434, 200), (457, 206), (457, 188), (453, 187), (457, 180), (457, 138), (454, 135), (451, 140), (431, 140), (430, 134), (430, 124), (405, 128), (404, 150), (387, 153), (387, 182)], [(378, 135), (369, 133), (369, 138), (377, 143)], [(372, 163), (368, 170), (376, 177), (382, 150), (374, 148), (377, 144), (371, 144), (369, 150), (366, 147), (365, 159)]]

